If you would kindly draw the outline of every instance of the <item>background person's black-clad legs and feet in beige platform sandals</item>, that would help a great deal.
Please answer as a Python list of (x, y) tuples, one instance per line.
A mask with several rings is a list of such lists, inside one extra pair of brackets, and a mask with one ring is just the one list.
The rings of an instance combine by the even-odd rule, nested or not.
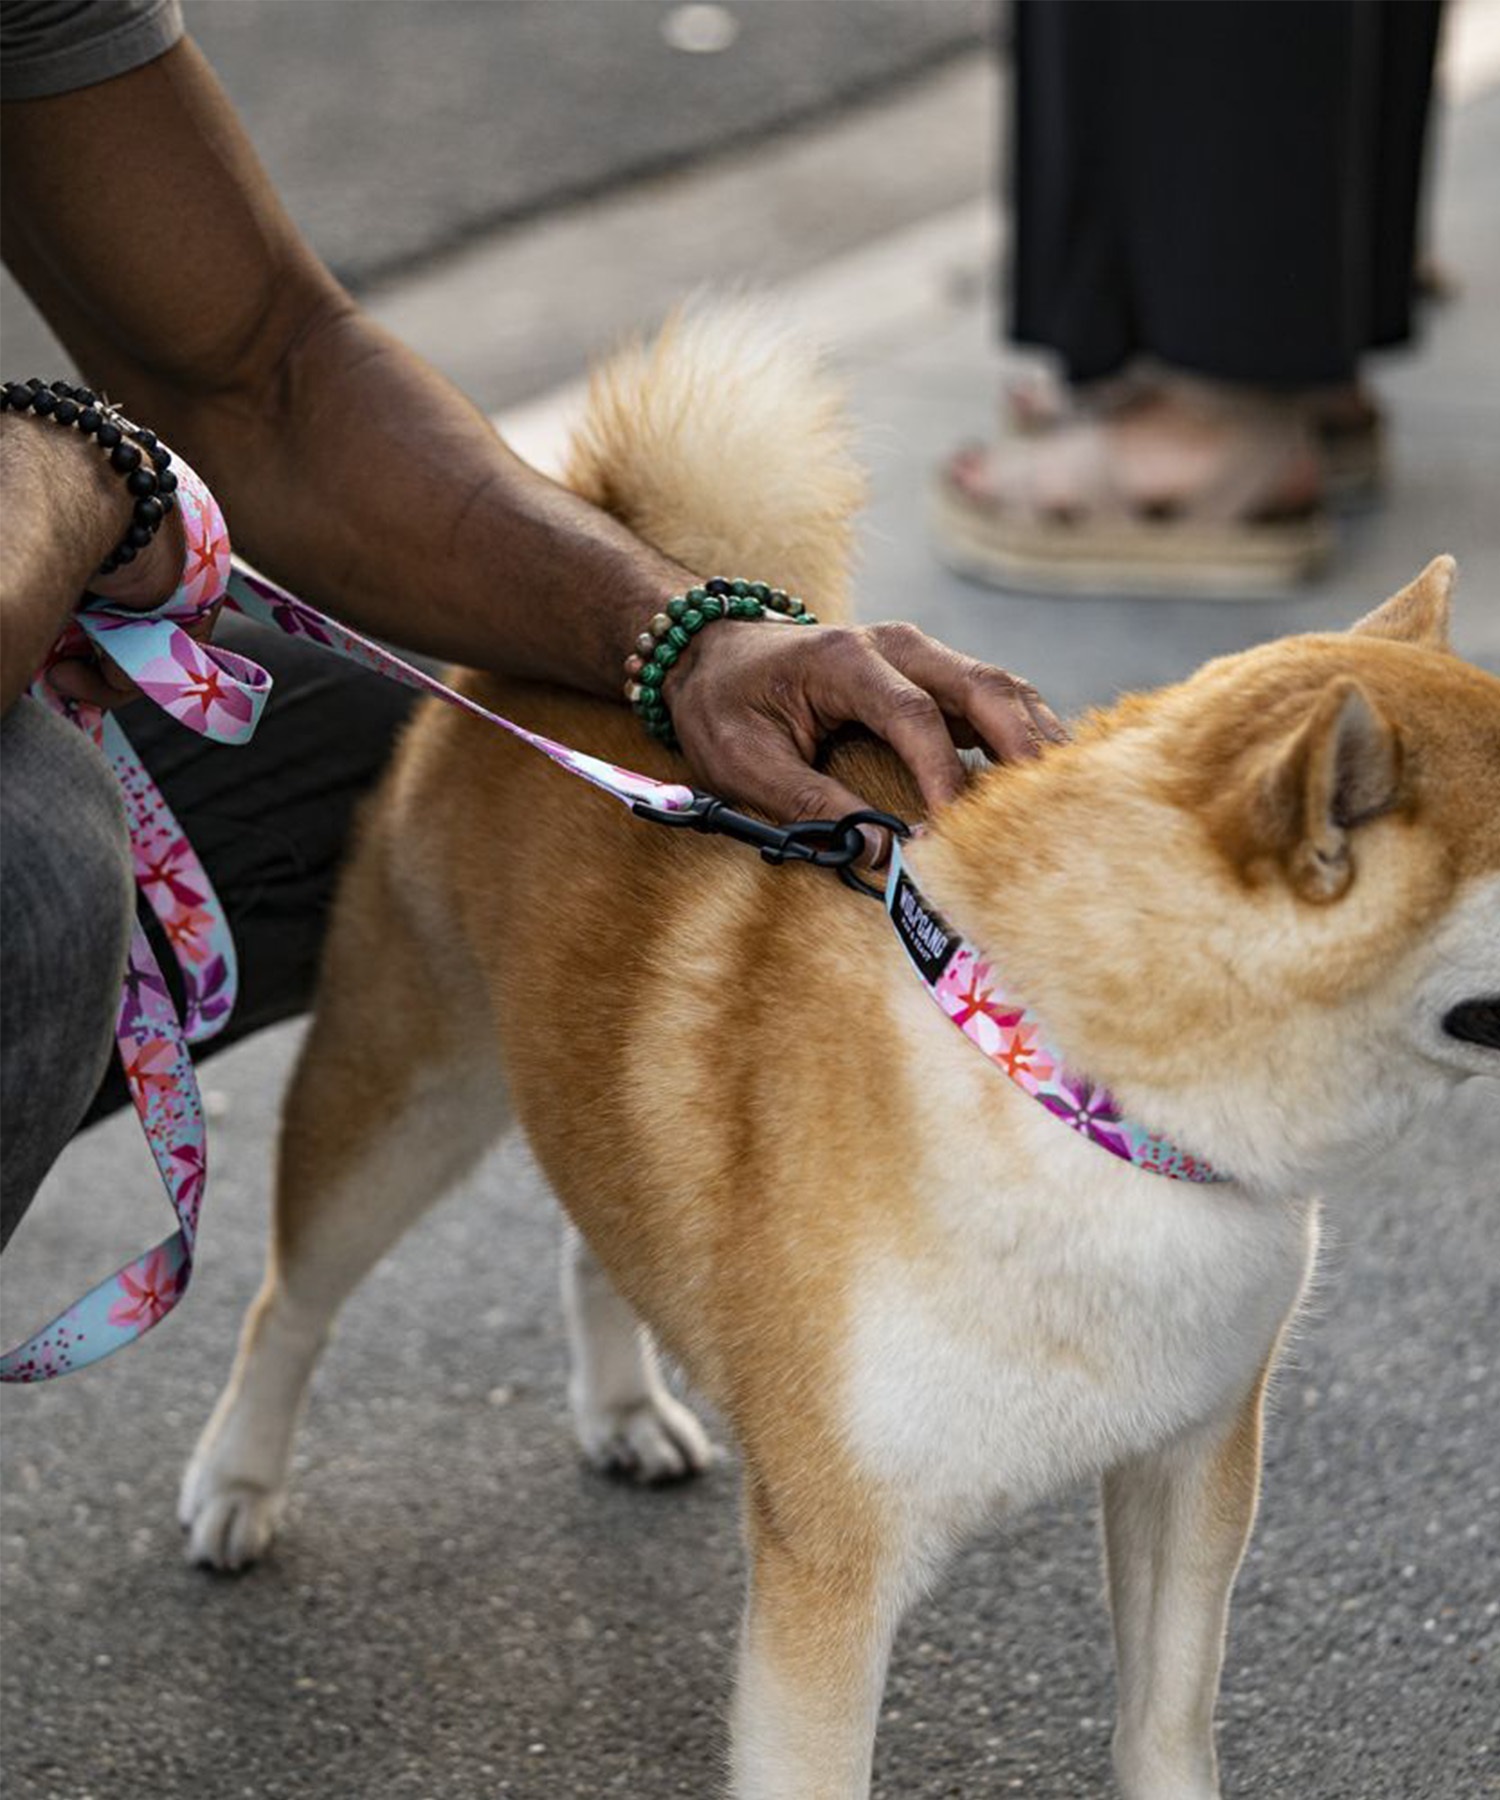
[(947, 461), (954, 569), (1237, 598), (1327, 563), (1331, 497), (1381, 486), (1360, 358), (1410, 333), (1439, 16), (1017, 0), (1010, 328), (1071, 392)]

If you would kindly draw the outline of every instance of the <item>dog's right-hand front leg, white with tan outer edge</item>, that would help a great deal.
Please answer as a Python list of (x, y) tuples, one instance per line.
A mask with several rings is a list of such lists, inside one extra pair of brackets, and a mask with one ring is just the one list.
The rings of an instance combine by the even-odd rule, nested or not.
[(1219, 1431), (1104, 1478), (1125, 1800), (1217, 1800), (1214, 1701), (1224, 1622), (1261, 1483), (1266, 1375)]

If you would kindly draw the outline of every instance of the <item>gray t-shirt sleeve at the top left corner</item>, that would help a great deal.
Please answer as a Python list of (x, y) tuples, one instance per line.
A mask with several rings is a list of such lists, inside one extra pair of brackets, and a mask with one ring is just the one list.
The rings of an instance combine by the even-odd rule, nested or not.
[(92, 88), (182, 36), (178, 0), (0, 0), (0, 99)]

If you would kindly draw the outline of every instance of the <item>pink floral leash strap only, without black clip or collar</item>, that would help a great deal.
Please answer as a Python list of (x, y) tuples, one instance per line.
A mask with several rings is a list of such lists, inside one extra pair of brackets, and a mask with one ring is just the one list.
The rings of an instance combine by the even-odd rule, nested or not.
[(119, 724), (97, 707), (79, 706), (54, 693), (45, 680), (54, 662), (77, 655), (92, 641), (108, 652), (148, 698), (189, 731), (218, 743), (243, 743), (265, 709), (270, 675), (230, 650), (200, 644), (187, 634), (189, 626), (225, 603), (409, 688), (439, 695), (535, 745), (627, 806), (641, 806), (668, 819), (702, 806), (702, 796), (682, 783), (654, 781), (630, 769), (618, 769), (490, 713), (270, 581), (236, 571), (214, 497), (180, 457), (175, 468), (187, 533), (187, 558), (176, 592), (151, 612), (90, 601), (52, 646), (31, 691), (86, 731), (113, 765), (130, 821), (135, 880), (182, 972), (185, 1003), (178, 1019), (157, 956), (137, 923), (115, 1042), (130, 1098), (176, 1213), (176, 1231), (99, 1282), (23, 1345), (5, 1352), (0, 1357), (0, 1381), (7, 1382), (50, 1381), (101, 1361), (158, 1325), (187, 1291), (207, 1181), (203, 1107), (189, 1044), (202, 1044), (223, 1028), (236, 995), (234, 941), (202, 862)]

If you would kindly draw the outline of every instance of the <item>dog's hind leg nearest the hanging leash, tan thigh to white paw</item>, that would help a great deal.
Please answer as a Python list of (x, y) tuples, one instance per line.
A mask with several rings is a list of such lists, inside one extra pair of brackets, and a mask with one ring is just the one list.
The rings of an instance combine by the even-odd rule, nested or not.
[(459, 954), (414, 925), (367, 842), (286, 1098), (265, 1282), (182, 1483), (194, 1562), (236, 1570), (267, 1548), (339, 1307), (506, 1125), (490, 1012)]

